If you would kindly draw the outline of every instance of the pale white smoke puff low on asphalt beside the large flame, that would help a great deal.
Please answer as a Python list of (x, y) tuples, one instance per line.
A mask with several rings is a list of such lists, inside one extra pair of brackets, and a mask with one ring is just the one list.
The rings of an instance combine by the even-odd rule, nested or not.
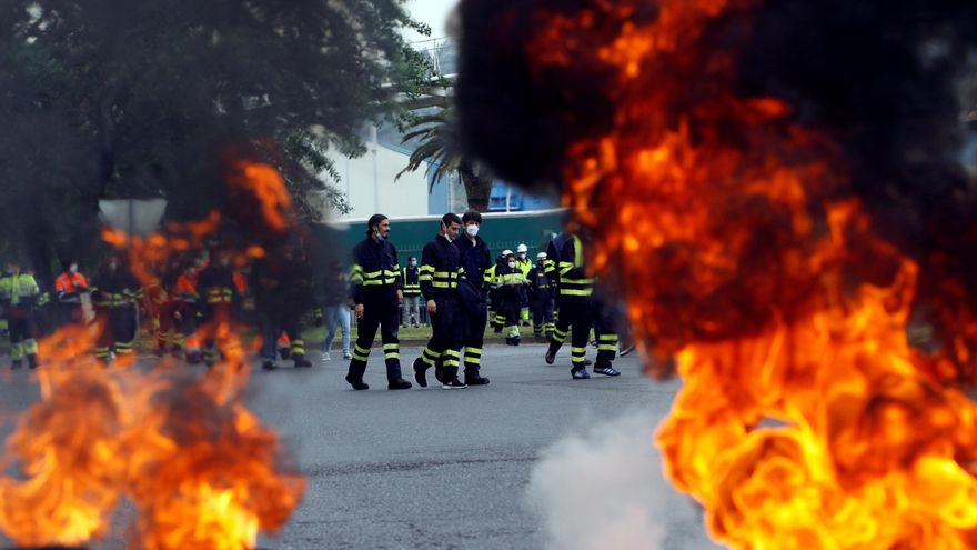
[(544, 451), (526, 499), (544, 522), (546, 548), (713, 548), (693, 501), (662, 477), (654, 424), (649, 413), (632, 411)]

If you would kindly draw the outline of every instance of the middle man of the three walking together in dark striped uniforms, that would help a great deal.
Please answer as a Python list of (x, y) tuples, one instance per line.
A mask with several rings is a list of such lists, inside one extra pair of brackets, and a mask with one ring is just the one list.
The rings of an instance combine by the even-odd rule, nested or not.
[(434, 377), (446, 390), (467, 386), (459, 380), (459, 360), (464, 319), (459, 299), (459, 279), (464, 277), (459, 248), (452, 242), (459, 238), (462, 220), (455, 213), (441, 218), (437, 236), (424, 246), (421, 254), (421, 292), (427, 299), (426, 309), (434, 333), (414, 361), (414, 379), (427, 387), (427, 369), (435, 367)]

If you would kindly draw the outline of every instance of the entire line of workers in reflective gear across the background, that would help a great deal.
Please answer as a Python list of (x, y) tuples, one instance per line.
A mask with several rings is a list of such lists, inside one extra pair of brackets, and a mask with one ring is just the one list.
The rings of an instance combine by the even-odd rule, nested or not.
[[(485, 386), (482, 350), (485, 329), (505, 330), (511, 346), (521, 342), (520, 327), (532, 319), (533, 333), (547, 341), (544, 360), (552, 364), (556, 351), (572, 333), (571, 376), (590, 378), (586, 346), (596, 334), (597, 357), (593, 371), (618, 376), (612, 362), (617, 350), (615, 316), (594, 293), (587, 274), (584, 248), (576, 227), (567, 221), (546, 252), (533, 263), (528, 249), (504, 250), (493, 258), (479, 237), (482, 216), (445, 214), (437, 234), (425, 244), (420, 264), (410, 258), (401, 268), (389, 239), (390, 220), (374, 214), (366, 237), (353, 250), (349, 276), (334, 262), (321, 282), (324, 294), (321, 319), (326, 324), (322, 344), (329, 360), (338, 328), (343, 332), (343, 358), (350, 360), (346, 381), (356, 390), (363, 381), (373, 340), (379, 330), (386, 364), (387, 387), (409, 389), (401, 370), (399, 329), (430, 320), (433, 334), (412, 364), (413, 378), (427, 386), (427, 371), (445, 389)], [(262, 337), (262, 368), (276, 369), (279, 360), (308, 368), (301, 336), (302, 320), (312, 309), (311, 264), (300, 248), (286, 244), (274, 258), (242, 261), (230, 249), (215, 247), (204, 254), (190, 254), (161, 269), (142, 269), (137, 278), (122, 257), (109, 258), (91, 283), (72, 260), (54, 281), (54, 299), (43, 292), (32, 273), (11, 259), (0, 277), (0, 307), (11, 342), (12, 367), (24, 359), (38, 366), (37, 313), (53, 302), (61, 324), (93, 326), (98, 338), (95, 358), (109, 364), (135, 350), (140, 318), (155, 339), (155, 353), (172, 353), (189, 363), (208, 366), (240, 349), (229, 338), (232, 320), (256, 324)], [(145, 272), (153, 274), (147, 279)], [(423, 302), (422, 302), (423, 299)], [(350, 346), (350, 309), (357, 319), (357, 338)], [(423, 309), (422, 309), (423, 308)], [(44, 331), (42, 331), (44, 332)]]

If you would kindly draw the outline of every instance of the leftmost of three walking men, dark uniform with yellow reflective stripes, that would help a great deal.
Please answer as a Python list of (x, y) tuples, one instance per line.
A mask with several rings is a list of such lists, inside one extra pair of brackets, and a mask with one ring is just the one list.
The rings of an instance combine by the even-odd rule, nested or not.
[(366, 222), (366, 238), (353, 249), (350, 284), (359, 337), (346, 382), (354, 390), (370, 389), (363, 381), (363, 374), (377, 327), (386, 361), (387, 389), (411, 388), (411, 382), (401, 376), (397, 304), (404, 299), (403, 280), (396, 248), (387, 240), (389, 236), (390, 220), (386, 216), (373, 214)]

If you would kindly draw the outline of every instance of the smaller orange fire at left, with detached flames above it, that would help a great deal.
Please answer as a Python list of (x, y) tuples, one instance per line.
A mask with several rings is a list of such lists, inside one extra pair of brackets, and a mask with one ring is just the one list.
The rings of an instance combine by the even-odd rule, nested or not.
[[(245, 173), (269, 178), (262, 168)], [(278, 213), (285, 217), (271, 227), (288, 219)], [(148, 283), (171, 254), (204, 247), (220, 220), (212, 212), (165, 233), (104, 238)], [(239, 257), (263, 253), (245, 244)], [(43, 340), (41, 399), (20, 417), (0, 462), (0, 471), (20, 472), (0, 477), (0, 529), (21, 546), (82, 546), (109, 534), (123, 499), (138, 510), (133, 543), (149, 550), (243, 550), (259, 531), (280, 529), (305, 480), (282, 466), (278, 438), (243, 403), (250, 367), (240, 331), (229, 319), (208, 330), (224, 359), (202, 376), (170, 359), (148, 372), (101, 369), (88, 359), (97, 339), (88, 327)]]

